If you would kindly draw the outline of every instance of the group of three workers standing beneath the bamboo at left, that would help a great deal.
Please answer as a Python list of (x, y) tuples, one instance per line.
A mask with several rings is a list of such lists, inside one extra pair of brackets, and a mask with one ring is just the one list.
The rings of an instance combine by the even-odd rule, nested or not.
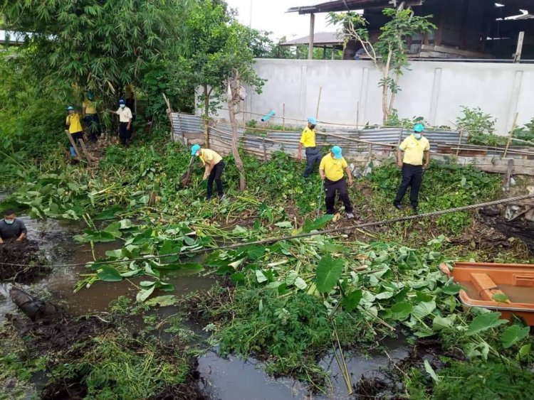
[[(127, 107), (125, 99), (119, 100), (119, 107), (117, 111), (109, 110), (112, 114), (117, 114), (119, 117), (119, 139), (120, 143), (124, 146), (129, 144), (132, 137), (132, 109)], [(86, 92), (85, 99), (83, 100), (82, 112), (79, 112), (73, 106), (67, 107), (67, 120), (68, 132), (72, 136), (75, 144), (83, 139), (83, 127), (82, 122), (86, 126), (90, 140), (96, 142), (100, 136), (100, 119), (98, 118), (98, 112), (94, 104), (93, 93)], [(74, 146), (70, 146), (70, 156), (77, 156)]]

